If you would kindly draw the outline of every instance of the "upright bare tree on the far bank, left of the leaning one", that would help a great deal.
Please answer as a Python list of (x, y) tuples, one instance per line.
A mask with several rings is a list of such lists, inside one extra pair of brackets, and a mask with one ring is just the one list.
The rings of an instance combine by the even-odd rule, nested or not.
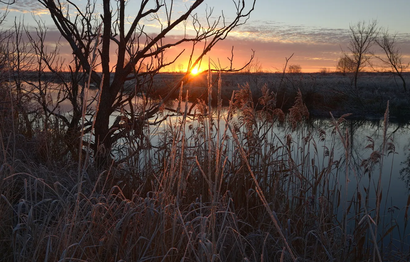
[(359, 72), (364, 71), (369, 66), (369, 61), (373, 55), (372, 47), (378, 36), (377, 20), (369, 23), (359, 21), (349, 26), (350, 42), (347, 46), (350, 54), (343, 52), (346, 59), (351, 60), (354, 66), (354, 85), (357, 89)]

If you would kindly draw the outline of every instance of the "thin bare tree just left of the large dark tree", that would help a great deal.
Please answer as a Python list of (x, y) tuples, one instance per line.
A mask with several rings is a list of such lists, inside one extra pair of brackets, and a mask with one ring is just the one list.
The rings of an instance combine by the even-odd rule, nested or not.
[[(79, 157), (84, 160), (85, 152), (82, 148), (81, 131), (89, 133), (95, 111), (91, 104), (96, 97), (87, 96), (86, 81), (87, 71), (82, 67), (80, 59), (73, 54), (71, 62), (59, 59), (59, 43), (54, 48), (46, 46), (47, 27), (43, 21), (35, 18), (37, 25), (31, 27), (32, 31), (25, 28), (25, 33), (31, 46), (32, 67), (30, 77), (25, 77), (25, 92), (31, 94), (31, 101), (43, 111), (44, 129), (50, 128), (48, 120), (55, 117), (64, 124), (64, 139), (66, 149), (71, 153), (75, 161)], [(92, 53), (93, 46), (90, 45), (88, 52)], [(27, 71), (22, 72), (23, 76)], [(17, 82), (16, 82), (17, 84)], [(50, 97), (57, 94), (56, 99)], [(88, 97), (88, 98), (87, 98)], [(67, 114), (60, 112), (60, 105), (69, 101), (72, 108)], [(84, 116), (84, 119), (83, 119)], [(90, 117), (90, 119), (87, 119)], [(54, 121), (55, 123), (55, 121)], [(52, 147), (50, 147), (52, 148)], [(67, 151), (66, 151), (67, 152)], [(47, 154), (52, 152), (46, 151)]]

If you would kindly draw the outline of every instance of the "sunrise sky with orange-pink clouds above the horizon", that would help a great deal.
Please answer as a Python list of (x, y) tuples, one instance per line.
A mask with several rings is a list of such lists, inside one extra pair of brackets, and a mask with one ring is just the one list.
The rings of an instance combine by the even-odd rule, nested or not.
[[(237, 1), (237, 0), (236, 0)], [(80, 8), (85, 0), (73, 0)], [(97, 9), (100, 7), (97, 0)], [(114, 1), (112, 1), (114, 2)], [(176, 17), (186, 10), (190, 0), (174, 0), (173, 15)], [(131, 20), (135, 10), (138, 10), (140, 0), (128, 0), (126, 16)], [(251, 5), (245, 0), (246, 7)], [(199, 18), (205, 17), (205, 10), (213, 7), (211, 18), (217, 18), (223, 12), (229, 21), (234, 16), (234, 2), (232, 0), (205, 0), (198, 7)], [(4, 10), (5, 5), (0, 4)], [(15, 0), (8, 7), (10, 11), (4, 28), (14, 23), (14, 17), (22, 19), (29, 28), (35, 25), (33, 14), (40, 17), (48, 26), (50, 43), (58, 41), (58, 34), (47, 10), (37, 0)], [(164, 10), (162, 10), (164, 11)], [(276, 71), (286, 62), (285, 57), (294, 53), (291, 64), (300, 64), (302, 71), (316, 72), (322, 67), (334, 70), (341, 50), (347, 50), (349, 40), (349, 24), (359, 20), (378, 20), (378, 25), (389, 28), (390, 32), (397, 32), (398, 44), (405, 58), (410, 61), (410, 0), (256, 0), (255, 9), (248, 21), (231, 32), (229, 37), (216, 46), (209, 53), (212, 60), (220, 60), (228, 65), (232, 46), (234, 46), (234, 66), (241, 67), (255, 51), (255, 57), (262, 64), (265, 71)], [(145, 21), (146, 30), (150, 33), (158, 32), (158, 24)], [(189, 28), (187, 32), (189, 31)], [(169, 41), (178, 39), (184, 34), (183, 27), (172, 31)], [(60, 41), (60, 54), (71, 54), (69, 47)], [(189, 46), (183, 46), (189, 48)], [(169, 50), (167, 55), (174, 57), (180, 49)], [(187, 53), (187, 52), (185, 52)], [(186, 56), (182, 55), (176, 64), (185, 64)], [(201, 66), (203, 69), (203, 66)]]

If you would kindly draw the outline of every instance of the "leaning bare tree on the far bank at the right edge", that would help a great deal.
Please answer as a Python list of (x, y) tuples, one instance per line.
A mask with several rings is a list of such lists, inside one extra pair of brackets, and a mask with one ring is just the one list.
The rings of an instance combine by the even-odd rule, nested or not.
[(405, 64), (403, 61), (403, 55), (401, 54), (400, 47), (397, 46), (396, 36), (397, 33), (389, 34), (388, 29), (383, 29), (380, 37), (375, 39), (377, 45), (383, 52), (383, 55), (375, 55), (381, 64), (375, 65), (373, 68), (378, 72), (388, 72), (392, 73), (394, 76), (399, 76), (403, 81), (403, 90), (404, 92), (407, 92), (403, 72), (409, 68), (410, 62)]

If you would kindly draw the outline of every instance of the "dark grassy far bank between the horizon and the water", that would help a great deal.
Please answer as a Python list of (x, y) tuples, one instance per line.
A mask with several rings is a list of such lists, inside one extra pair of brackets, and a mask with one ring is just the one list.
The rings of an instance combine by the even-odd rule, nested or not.
[[(409, 79), (409, 74), (405, 78)], [(169, 85), (182, 77), (182, 74), (163, 73), (156, 76), (155, 94), (164, 96)], [(390, 116), (410, 118), (410, 94), (403, 93), (401, 80), (388, 74), (362, 73), (358, 80), (358, 88), (353, 86), (353, 76), (340, 73), (225, 73), (222, 76), (221, 96), (228, 101), (233, 90), (239, 85), (249, 84), (253, 101), (262, 95), (262, 87), (266, 84), (270, 92), (276, 94), (276, 107), (288, 110), (295, 103), (298, 90), (301, 90), (303, 101), (311, 115), (341, 116), (352, 113), (355, 117), (383, 117), (387, 101), (390, 101)], [(200, 76), (185, 85), (183, 92), (189, 90), (191, 101), (207, 99), (206, 76)], [(178, 98), (178, 94), (175, 94)], [(213, 97), (216, 101), (216, 95)]]

